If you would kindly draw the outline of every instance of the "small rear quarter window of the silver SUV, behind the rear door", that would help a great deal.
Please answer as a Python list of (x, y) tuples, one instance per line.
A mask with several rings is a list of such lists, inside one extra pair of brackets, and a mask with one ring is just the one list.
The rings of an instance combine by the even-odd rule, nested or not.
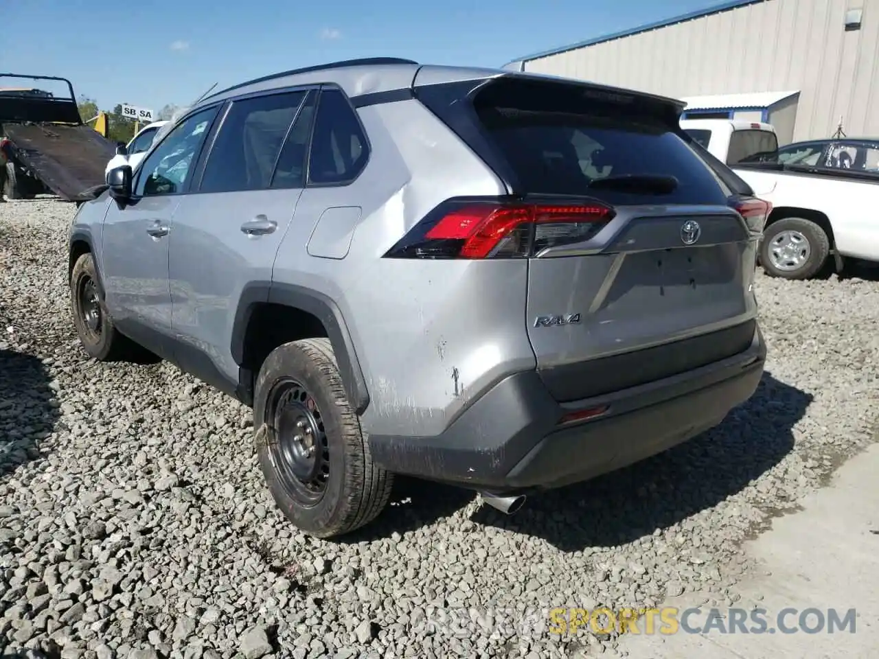
[(367, 164), (367, 137), (345, 95), (321, 92), (309, 159), (309, 183), (342, 184)]

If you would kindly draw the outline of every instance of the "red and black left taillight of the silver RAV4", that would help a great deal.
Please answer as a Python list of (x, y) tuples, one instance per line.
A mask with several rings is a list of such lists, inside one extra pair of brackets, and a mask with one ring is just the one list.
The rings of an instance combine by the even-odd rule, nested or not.
[(598, 202), (506, 203), (450, 199), (403, 236), (385, 257), (527, 258), (592, 238), (614, 218)]

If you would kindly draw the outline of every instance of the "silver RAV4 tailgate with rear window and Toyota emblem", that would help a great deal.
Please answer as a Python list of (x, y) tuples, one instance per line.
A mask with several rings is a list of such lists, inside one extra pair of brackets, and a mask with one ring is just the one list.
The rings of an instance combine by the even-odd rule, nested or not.
[(527, 331), (559, 400), (752, 343), (756, 234), (670, 105), (515, 79), (488, 84), (474, 105), (527, 198), (594, 209), (585, 224), (539, 224), (534, 235)]

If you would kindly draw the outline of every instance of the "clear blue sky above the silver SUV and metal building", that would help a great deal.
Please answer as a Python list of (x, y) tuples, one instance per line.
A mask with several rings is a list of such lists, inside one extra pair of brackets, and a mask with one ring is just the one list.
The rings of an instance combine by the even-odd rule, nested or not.
[(275, 71), (354, 57), (499, 67), (721, 0), (5, 0), (0, 69), (78, 94), (185, 105)]

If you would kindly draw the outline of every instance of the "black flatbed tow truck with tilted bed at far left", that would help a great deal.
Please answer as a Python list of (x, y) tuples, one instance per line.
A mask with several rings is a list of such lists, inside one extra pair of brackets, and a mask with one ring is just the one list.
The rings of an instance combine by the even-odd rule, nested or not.
[[(6, 78), (64, 83), (69, 96), (5, 86)], [(6, 199), (33, 199), (38, 194), (55, 194), (77, 204), (92, 199), (105, 185), (106, 164), (115, 153), (115, 142), (79, 116), (69, 80), (0, 74), (0, 166), (5, 168)]]

